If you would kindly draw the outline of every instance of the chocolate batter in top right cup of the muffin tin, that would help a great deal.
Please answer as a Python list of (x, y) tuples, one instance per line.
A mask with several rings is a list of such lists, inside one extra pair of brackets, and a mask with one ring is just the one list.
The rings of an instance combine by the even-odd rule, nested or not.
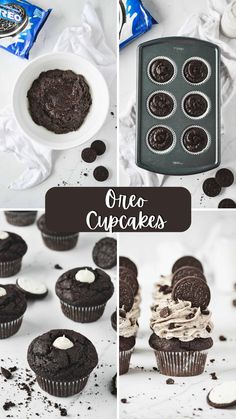
[(184, 77), (189, 83), (198, 84), (202, 83), (208, 77), (208, 66), (200, 59), (193, 59), (187, 61), (184, 66)]

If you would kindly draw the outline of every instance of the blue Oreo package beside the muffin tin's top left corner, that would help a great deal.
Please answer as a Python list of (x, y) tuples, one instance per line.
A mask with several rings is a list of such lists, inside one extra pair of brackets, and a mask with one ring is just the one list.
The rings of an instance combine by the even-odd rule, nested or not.
[(124, 48), (138, 36), (151, 29), (157, 21), (143, 6), (141, 0), (119, 0), (119, 39)]

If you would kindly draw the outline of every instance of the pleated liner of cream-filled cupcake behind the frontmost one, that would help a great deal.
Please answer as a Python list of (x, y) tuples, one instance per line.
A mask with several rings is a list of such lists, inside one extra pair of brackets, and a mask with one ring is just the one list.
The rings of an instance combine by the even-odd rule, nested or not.
[(96, 320), (100, 319), (100, 317), (103, 315), (106, 307), (106, 303), (91, 307), (78, 307), (72, 304), (65, 303), (62, 300), (60, 301), (61, 309), (65, 316), (79, 323), (95, 322)]

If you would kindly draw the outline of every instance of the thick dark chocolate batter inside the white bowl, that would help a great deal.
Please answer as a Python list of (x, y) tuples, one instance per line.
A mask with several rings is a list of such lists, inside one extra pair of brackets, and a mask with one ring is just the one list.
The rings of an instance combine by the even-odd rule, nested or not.
[(55, 134), (77, 131), (92, 104), (84, 76), (71, 70), (49, 70), (34, 80), (27, 98), (33, 121)]

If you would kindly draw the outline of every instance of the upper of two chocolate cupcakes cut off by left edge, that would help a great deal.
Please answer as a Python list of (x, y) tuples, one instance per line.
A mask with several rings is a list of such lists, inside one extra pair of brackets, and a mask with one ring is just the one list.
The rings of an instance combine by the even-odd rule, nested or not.
[(27, 244), (18, 234), (0, 231), (0, 277), (16, 275), (26, 252)]

